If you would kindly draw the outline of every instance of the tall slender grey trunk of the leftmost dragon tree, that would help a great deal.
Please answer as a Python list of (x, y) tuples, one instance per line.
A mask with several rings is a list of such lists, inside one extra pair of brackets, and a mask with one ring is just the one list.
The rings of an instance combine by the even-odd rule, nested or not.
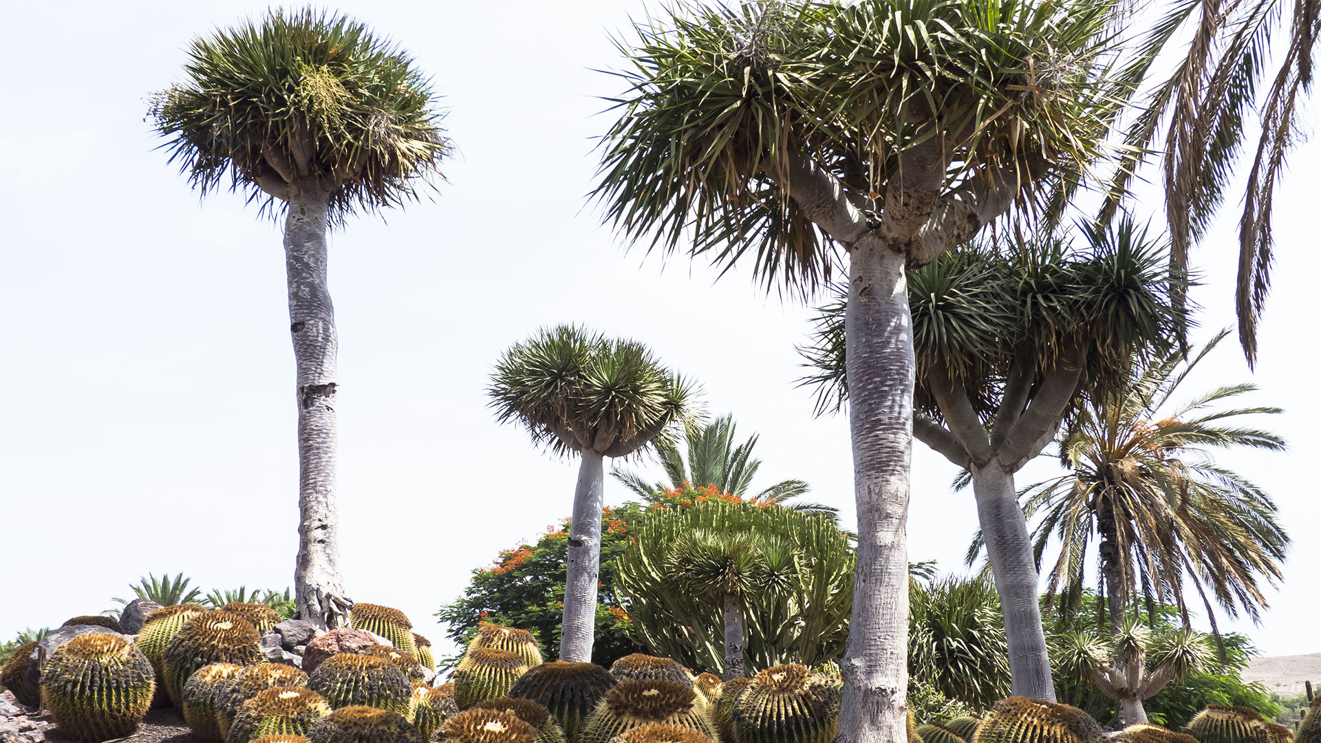
[(297, 366), (299, 561), (293, 574), (299, 616), (317, 627), (347, 624), (339, 578), (336, 513), (336, 395), (338, 377), (334, 307), (326, 290), (326, 212), (318, 186), (289, 188), (284, 266), (289, 284), (289, 332)]

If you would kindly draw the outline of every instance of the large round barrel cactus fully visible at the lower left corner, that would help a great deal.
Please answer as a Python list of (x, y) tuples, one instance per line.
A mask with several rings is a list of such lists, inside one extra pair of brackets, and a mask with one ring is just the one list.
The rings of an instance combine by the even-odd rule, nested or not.
[(41, 672), (41, 703), (59, 732), (74, 740), (128, 735), (147, 715), (155, 691), (151, 661), (119, 635), (79, 635)]

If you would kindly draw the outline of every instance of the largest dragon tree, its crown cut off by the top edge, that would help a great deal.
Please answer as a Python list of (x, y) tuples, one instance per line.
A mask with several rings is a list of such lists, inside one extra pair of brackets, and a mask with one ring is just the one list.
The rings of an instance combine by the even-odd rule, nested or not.
[[(859, 590), (841, 664), (845, 739), (905, 735), (906, 270), (1077, 180), (1100, 153), (1123, 94), (1104, 69), (1112, 11), (1106, 0), (684, 4), (620, 42), (631, 69), (594, 196), (622, 234), (750, 263), (798, 293), (848, 264)], [(1044, 657), (1016, 691), (1049, 697)]]

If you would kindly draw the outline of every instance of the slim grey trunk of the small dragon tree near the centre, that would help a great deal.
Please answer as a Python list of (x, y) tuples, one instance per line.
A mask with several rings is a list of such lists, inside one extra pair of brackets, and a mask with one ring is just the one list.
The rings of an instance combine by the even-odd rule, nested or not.
[(596, 637), (596, 584), (601, 572), (601, 506), (605, 493), (605, 457), (583, 450), (573, 522), (569, 525), (568, 576), (564, 582), (564, 619), (560, 624), (560, 660), (592, 662)]

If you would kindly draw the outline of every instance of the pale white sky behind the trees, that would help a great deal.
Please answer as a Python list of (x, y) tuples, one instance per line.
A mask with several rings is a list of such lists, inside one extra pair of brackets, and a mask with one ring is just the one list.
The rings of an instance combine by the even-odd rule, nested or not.
[[(0, 45), (0, 636), (125, 596), (148, 571), (202, 587), (292, 582), (297, 461), (280, 233), (239, 197), (199, 202), (144, 123), (198, 33), (259, 1), (25, 3)], [(748, 274), (626, 253), (585, 206), (592, 137), (617, 82), (608, 33), (635, 0), (341, 3), (412, 52), (450, 110), (460, 155), (432, 202), (333, 235), (341, 565), (351, 596), (390, 604), (443, 645), (432, 613), (472, 568), (569, 512), (576, 464), (497, 426), (491, 362), (540, 325), (650, 344), (705, 387), (712, 414), (761, 434), (766, 481), (801, 477), (853, 521), (847, 422), (814, 419), (795, 344), (810, 311)], [(1313, 422), (1316, 190), (1301, 145), (1276, 204), (1280, 259), (1248, 377), (1226, 342), (1190, 393), (1251, 378), (1283, 455), (1222, 461), (1280, 505), (1295, 538), (1271, 592), (1267, 654), (1321, 650)], [(1232, 320), (1232, 209), (1193, 254), (1205, 338)], [(1303, 336), (1299, 342), (1299, 336)], [(1053, 472), (1042, 459), (1020, 484)], [(954, 468), (917, 446), (910, 558), (960, 567), (976, 525)], [(609, 501), (625, 500), (606, 483)]]

